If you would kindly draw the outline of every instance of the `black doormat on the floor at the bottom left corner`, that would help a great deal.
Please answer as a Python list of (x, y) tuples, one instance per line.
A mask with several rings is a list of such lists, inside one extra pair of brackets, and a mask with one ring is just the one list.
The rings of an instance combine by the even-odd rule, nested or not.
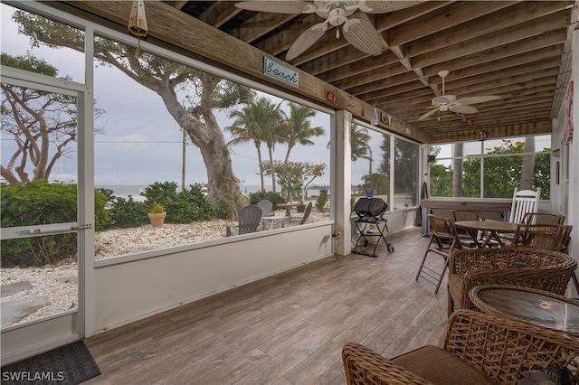
[(82, 341), (2, 367), (2, 384), (76, 385), (100, 374)]

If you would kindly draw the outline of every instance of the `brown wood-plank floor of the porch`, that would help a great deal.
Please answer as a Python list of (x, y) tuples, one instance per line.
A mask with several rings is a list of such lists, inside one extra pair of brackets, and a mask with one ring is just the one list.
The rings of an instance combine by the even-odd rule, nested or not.
[(429, 239), (388, 240), (378, 258), (325, 258), (90, 337), (102, 374), (86, 383), (342, 384), (346, 342), (385, 357), (441, 346), (445, 282), (434, 295), (414, 280)]

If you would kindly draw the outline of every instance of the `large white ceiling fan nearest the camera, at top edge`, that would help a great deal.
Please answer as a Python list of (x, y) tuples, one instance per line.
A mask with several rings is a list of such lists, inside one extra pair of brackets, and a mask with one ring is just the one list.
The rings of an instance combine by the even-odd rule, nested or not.
[[(369, 55), (379, 55), (384, 50), (384, 42), (374, 25), (365, 18), (350, 18), (357, 10), (367, 14), (386, 14), (423, 3), (418, 1), (369, 1), (369, 0), (315, 0), (313, 3), (306, 1), (242, 1), (236, 3), (238, 8), (257, 11), (271, 12), (275, 14), (318, 14), (326, 19), (324, 23), (312, 25), (301, 33), (298, 39), (291, 45), (286, 54), (286, 60), (290, 61), (308, 50), (314, 42), (317, 42), (330, 25), (342, 26), (342, 33), (348, 42), (356, 49)], [(339, 38), (339, 29), (336, 29), (336, 37)]]

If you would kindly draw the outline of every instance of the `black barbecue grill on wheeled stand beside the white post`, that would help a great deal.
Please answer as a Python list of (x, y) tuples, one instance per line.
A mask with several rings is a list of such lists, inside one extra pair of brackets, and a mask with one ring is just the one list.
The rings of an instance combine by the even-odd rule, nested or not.
[(358, 216), (354, 223), (360, 236), (356, 241), (356, 247), (352, 250), (353, 253), (378, 257), (375, 252), (382, 239), (386, 249), (394, 251), (394, 246), (384, 237), (384, 231), (388, 231), (387, 220), (384, 218), (387, 210), (388, 205), (382, 198), (360, 198), (354, 204), (354, 211)]

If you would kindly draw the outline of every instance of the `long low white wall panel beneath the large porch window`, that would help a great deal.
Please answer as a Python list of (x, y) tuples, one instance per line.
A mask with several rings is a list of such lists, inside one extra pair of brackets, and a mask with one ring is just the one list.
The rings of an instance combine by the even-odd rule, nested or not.
[(331, 256), (331, 232), (327, 221), (174, 248), (153, 258), (99, 260), (96, 333)]

